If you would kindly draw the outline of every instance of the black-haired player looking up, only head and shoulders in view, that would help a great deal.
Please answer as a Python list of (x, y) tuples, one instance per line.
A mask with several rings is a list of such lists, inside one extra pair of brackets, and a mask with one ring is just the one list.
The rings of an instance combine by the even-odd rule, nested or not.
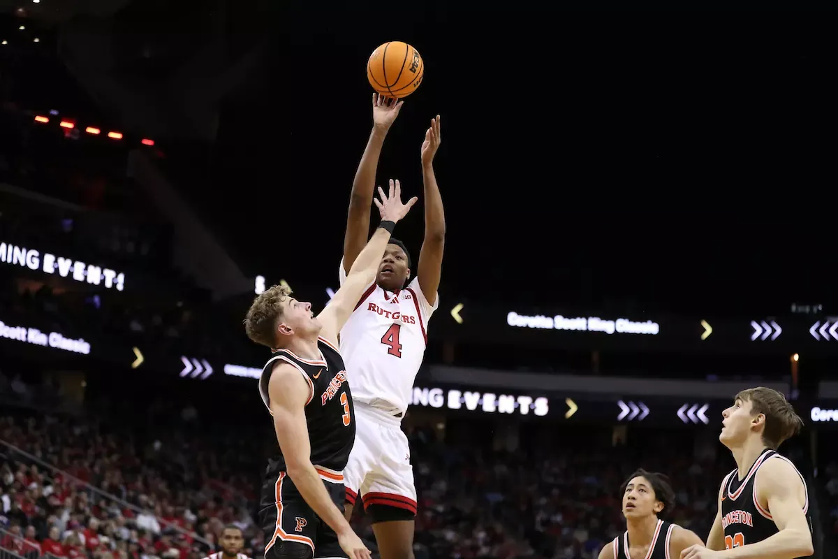
[(675, 493), (665, 475), (644, 469), (631, 474), (623, 484), (626, 531), (603, 547), (599, 559), (670, 559), (693, 544), (701, 545), (695, 532), (660, 520), (674, 506)]

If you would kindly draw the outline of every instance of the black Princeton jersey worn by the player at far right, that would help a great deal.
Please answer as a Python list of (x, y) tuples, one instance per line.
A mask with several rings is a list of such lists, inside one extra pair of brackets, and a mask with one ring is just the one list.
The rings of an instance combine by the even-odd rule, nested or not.
[[(748, 470), (745, 479), (739, 479), (738, 470), (733, 470), (724, 479), (722, 483), (722, 527), (725, 531), (725, 548), (747, 546), (748, 544), (757, 543), (758, 541), (767, 540), (779, 530), (777, 525), (771, 518), (768, 510), (763, 510), (763, 507), (758, 504), (757, 496), (754, 489), (757, 481), (757, 472), (760, 466), (767, 460), (785, 460), (792, 464), (794, 463), (773, 450), (766, 449), (759, 455), (757, 461)], [(797, 471), (797, 468), (794, 468)], [(820, 557), (820, 550), (817, 549), (818, 544), (815, 543), (815, 526), (812, 523), (812, 516), (809, 510), (809, 488), (806, 487), (806, 480), (799, 472), (800, 481), (806, 489), (806, 502), (803, 507), (806, 520), (809, 522), (809, 530), (813, 532), (813, 545), (815, 545), (815, 555), (813, 557)]]

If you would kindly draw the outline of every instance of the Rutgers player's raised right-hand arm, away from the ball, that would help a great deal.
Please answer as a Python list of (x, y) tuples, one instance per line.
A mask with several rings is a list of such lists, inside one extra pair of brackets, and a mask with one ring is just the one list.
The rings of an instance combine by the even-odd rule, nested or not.
[(422, 142), (422, 178), (425, 184), (425, 240), (419, 253), (416, 277), (427, 302), (437, 301), (437, 289), (442, 275), (442, 252), (445, 250), (445, 211), (439, 194), (437, 176), (433, 172), (433, 157), (440, 143), (439, 115), (431, 121)]

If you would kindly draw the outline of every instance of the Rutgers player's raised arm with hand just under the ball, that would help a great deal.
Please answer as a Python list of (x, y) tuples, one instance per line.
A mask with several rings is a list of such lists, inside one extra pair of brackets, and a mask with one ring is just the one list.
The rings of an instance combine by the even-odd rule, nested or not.
[(352, 195), (349, 198), (349, 216), (346, 218), (346, 236), (344, 236), (344, 272), (349, 272), (355, 258), (366, 245), (370, 235), (370, 209), (375, 194), (375, 170), (384, 138), (390, 130), (396, 116), (401, 111), (401, 101), (386, 99), (374, 93), (372, 96), (373, 127), (367, 141), (364, 155), (355, 171), (352, 182)]

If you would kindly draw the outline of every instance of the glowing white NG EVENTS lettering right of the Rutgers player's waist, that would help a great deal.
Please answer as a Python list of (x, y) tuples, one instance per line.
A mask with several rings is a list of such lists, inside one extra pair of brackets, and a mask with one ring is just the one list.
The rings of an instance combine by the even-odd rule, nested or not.
[(444, 391), (442, 388), (420, 388), (414, 386), (413, 406), (447, 407), (449, 410), (478, 409), (487, 413), (520, 413), (522, 416), (532, 412), (535, 416), (546, 416), (550, 412), (550, 401), (543, 396), (511, 396), (478, 391)]

